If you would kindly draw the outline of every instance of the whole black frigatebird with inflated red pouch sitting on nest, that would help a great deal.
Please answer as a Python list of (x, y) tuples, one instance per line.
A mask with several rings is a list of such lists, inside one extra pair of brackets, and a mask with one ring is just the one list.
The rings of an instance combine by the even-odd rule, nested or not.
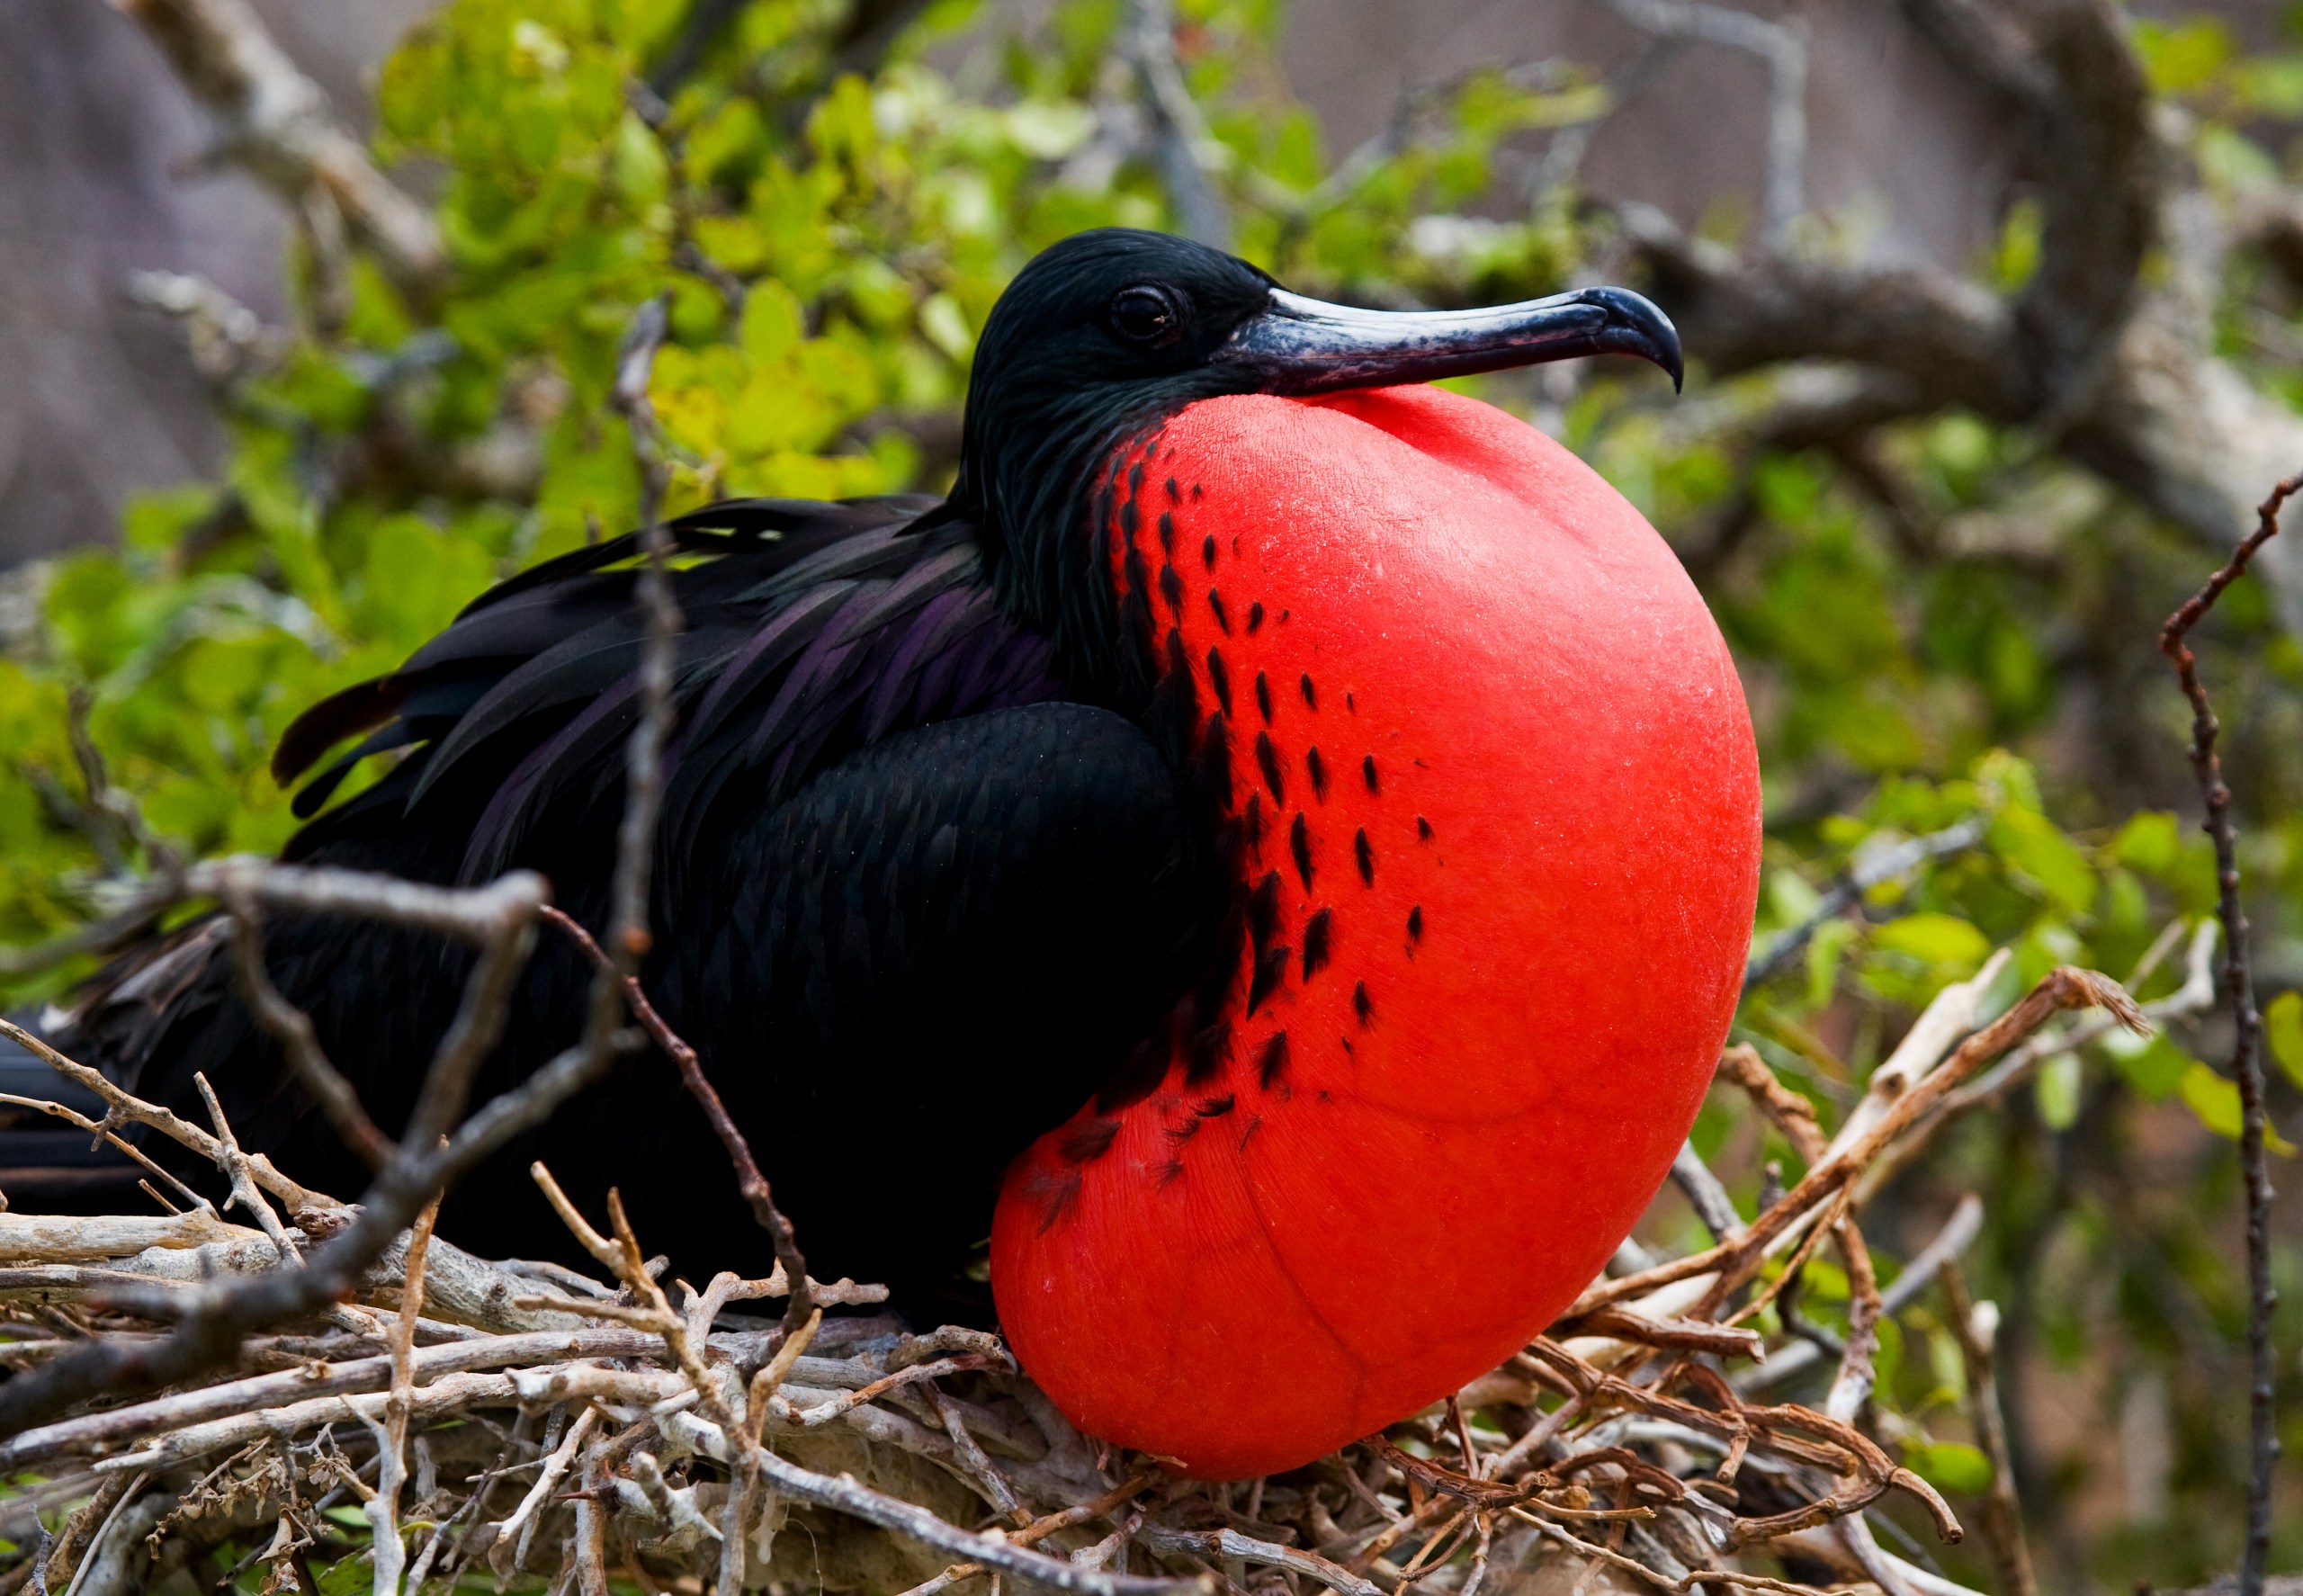
[[(682, 516), (679, 725), (645, 986), (815, 1274), (949, 1313), (990, 1239), (1025, 1368), (1200, 1474), (1299, 1465), (1495, 1366), (1654, 1195), (1725, 1034), (1759, 788), (1727, 649), (1591, 470), (1432, 378), (1640, 355), (1584, 288), (1375, 313), (1154, 233), (993, 309), (942, 502)], [(283, 737), (290, 859), (544, 871), (606, 919), (638, 541), (479, 596)], [(359, 760), (398, 765), (322, 808)], [(322, 1188), (359, 1168), (233, 997), (214, 924), (108, 970), (55, 1046)], [(276, 983), (380, 1124), (468, 956), (274, 919)], [(546, 947), (484, 1089), (562, 1048)], [(562, 1251), (610, 1181), (705, 1267), (765, 1239), (668, 1069), (481, 1170), (444, 1234)], [(981, 1274), (981, 1269), (979, 1269)]]

